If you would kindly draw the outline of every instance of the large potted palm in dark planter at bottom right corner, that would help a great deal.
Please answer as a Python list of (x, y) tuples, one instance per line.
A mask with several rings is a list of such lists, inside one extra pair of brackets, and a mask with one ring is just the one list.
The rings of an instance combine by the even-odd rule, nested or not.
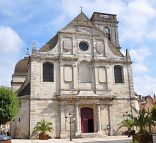
[(147, 112), (145, 109), (137, 111), (137, 117), (134, 117), (134, 126), (138, 128), (138, 133), (133, 135), (133, 141), (139, 143), (153, 143), (152, 135), (146, 130), (147, 127), (155, 125), (151, 117), (151, 112)]

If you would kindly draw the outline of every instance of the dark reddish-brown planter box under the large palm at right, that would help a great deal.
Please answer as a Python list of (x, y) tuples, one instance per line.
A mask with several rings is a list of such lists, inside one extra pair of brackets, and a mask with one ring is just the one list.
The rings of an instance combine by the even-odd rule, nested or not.
[(133, 141), (138, 141), (139, 143), (153, 143), (153, 137), (149, 134), (135, 134), (133, 135)]

